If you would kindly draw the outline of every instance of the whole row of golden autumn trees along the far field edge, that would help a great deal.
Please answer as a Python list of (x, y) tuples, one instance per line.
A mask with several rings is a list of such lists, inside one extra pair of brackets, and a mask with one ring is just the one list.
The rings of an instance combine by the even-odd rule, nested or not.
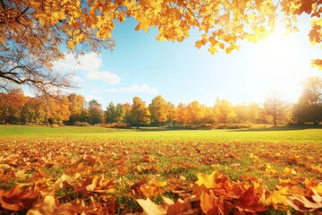
[(79, 94), (64, 96), (24, 96), (21, 89), (0, 93), (1, 124), (64, 124), (114, 126), (141, 125), (232, 125), (312, 123), (322, 119), (322, 78), (310, 77), (303, 85), (296, 104), (277, 94), (267, 96), (264, 104), (233, 105), (227, 99), (216, 99), (214, 106), (198, 100), (175, 106), (161, 95), (147, 105), (140, 97), (132, 103), (114, 104), (103, 108), (97, 99), (86, 102)]

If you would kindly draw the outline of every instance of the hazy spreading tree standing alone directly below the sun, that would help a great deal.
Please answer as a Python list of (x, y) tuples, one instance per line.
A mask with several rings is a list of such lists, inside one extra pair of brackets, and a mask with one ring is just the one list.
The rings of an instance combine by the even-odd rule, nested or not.
[(278, 122), (285, 120), (289, 107), (276, 93), (270, 94), (264, 102), (265, 113), (272, 118), (275, 127)]

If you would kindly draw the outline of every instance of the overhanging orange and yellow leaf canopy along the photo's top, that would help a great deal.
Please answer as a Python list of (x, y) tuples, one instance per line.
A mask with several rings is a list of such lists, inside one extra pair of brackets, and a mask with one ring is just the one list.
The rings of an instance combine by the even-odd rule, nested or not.
[[(61, 47), (75, 56), (113, 49), (115, 22), (129, 18), (138, 21), (135, 30), (157, 28), (161, 41), (180, 42), (197, 29), (195, 46), (214, 54), (239, 49), (239, 40), (265, 37), (278, 15), (297, 30), (296, 17), (309, 14), (309, 40), (320, 44), (321, 12), (321, 0), (0, 0), (0, 86), (29, 84), (43, 92), (72, 87), (65, 74), (53, 71), (53, 62), (64, 57)], [(312, 64), (322, 68), (321, 59)]]

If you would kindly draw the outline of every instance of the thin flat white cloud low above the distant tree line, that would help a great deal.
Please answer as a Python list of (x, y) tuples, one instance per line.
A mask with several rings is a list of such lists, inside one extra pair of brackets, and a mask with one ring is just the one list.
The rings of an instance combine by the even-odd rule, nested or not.
[(93, 90), (92, 93), (104, 93), (104, 92), (125, 92), (125, 93), (147, 93), (147, 94), (157, 94), (157, 88), (150, 87), (147, 84), (142, 85), (131, 85), (129, 87), (123, 88), (111, 88), (106, 90)]

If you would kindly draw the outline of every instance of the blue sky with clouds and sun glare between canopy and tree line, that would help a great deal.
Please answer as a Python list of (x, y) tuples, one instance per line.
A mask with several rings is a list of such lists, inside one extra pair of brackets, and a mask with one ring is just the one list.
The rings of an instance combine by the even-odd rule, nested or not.
[(212, 106), (217, 97), (234, 104), (263, 102), (277, 91), (284, 99), (296, 101), (301, 82), (322, 72), (311, 68), (310, 60), (320, 58), (320, 47), (311, 47), (307, 37), (309, 19), (298, 23), (300, 33), (282, 39), (280, 31), (257, 44), (241, 42), (240, 51), (211, 55), (207, 48), (194, 47), (198, 32), (182, 43), (157, 41), (157, 30), (136, 31), (137, 22), (117, 23), (113, 31), (114, 52), (89, 53), (79, 63), (71, 55), (56, 63), (58, 69), (76, 73), (80, 89), (73, 90), (86, 99), (130, 102), (135, 96), (149, 103), (157, 95), (175, 105), (199, 100)]

